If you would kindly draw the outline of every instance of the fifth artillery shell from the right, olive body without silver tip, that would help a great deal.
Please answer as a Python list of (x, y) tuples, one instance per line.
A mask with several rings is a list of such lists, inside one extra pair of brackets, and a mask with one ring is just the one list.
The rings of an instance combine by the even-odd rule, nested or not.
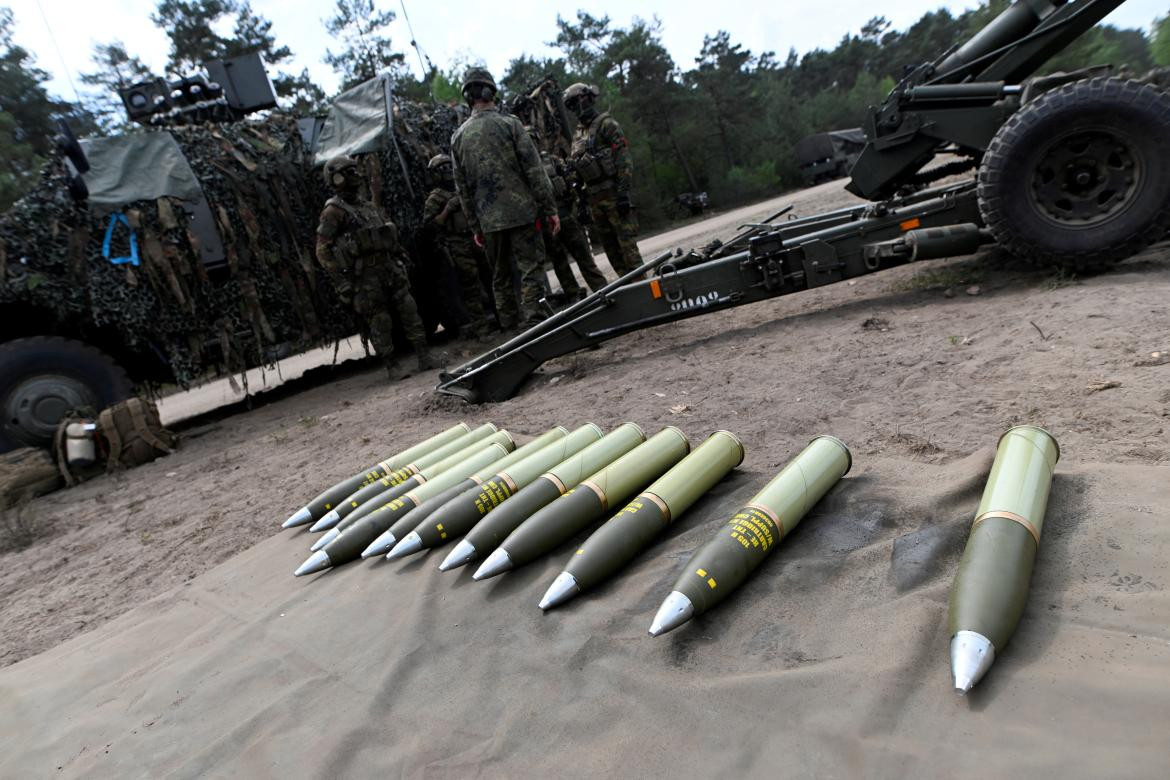
[(555, 502), (579, 485), (586, 476), (613, 463), (644, 441), (646, 434), (635, 423), (621, 423), (600, 441), (593, 442), (549, 469), (548, 474), (537, 477), (509, 498), (507, 504), (496, 508), (494, 512), (476, 523), (475, 527), (468, 531), (467, 541), (475, 547), (479, 558), (486, 558), (534, 512)]

